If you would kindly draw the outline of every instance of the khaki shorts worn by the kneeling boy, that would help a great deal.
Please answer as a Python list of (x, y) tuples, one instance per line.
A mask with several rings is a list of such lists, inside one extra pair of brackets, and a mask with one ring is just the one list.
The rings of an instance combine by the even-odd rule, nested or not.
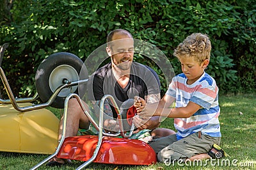
[(159, 162), (186, 160), (200, 153), (207, 153), (212, 145), (220, 144), (221, 137), (199, 135), (198, 132), (177, 141), (176, 135), (153, 139), (148, 144), (156, 151)]

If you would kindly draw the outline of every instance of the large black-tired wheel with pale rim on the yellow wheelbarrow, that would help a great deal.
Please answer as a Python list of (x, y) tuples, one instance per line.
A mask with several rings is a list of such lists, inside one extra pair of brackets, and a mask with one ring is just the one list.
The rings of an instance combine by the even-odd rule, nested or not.
[[(82, 66), (83, 61), (76, 55), (68, 52), (57, 52), (44, 59), (38, 66), (35, 77), (36, 91), (42, 102), (47, 102), (54, 91), (64, 84), (63, 79), (68, 81), (79, 80)], [(63, 108), (67, 95), (78, 93), (77, 87), (72, 86), (62, 89), (51, 106)]]

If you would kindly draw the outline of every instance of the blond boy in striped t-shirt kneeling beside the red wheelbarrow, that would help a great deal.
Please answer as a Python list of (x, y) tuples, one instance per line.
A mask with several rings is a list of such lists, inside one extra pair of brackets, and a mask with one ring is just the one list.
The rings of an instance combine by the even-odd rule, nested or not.
[[(174, 118), (177, 134), (149, 143), (159, 161), (210, 158), (208, 152), (212, 146), (220, 144), (218, 87), (204, 71), (209, 65), (210, 54), (211, 42), (207, 35), (189, 35), (173, 53), (179, 59), (183, 73), (173, 77), (161, 101), (146, 105), (142, 98), (134, 99), (139, 116)], [(175, 108), (170, 108), (175, 100)]]

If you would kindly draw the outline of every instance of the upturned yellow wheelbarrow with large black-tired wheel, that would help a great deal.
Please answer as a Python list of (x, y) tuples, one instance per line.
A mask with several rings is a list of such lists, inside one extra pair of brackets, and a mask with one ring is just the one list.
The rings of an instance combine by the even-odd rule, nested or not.
[[(63, 108), (67, 95), (77, 93), (82, 66), (83, 61), (74, 54), (58, 52), (50, 55), (38, 67), (37, 92), (31, 98), (14, 97), (0, 66), (1, 81), (9, 97), (7, 100), (0, 98), (0, 151), (54, 153), (60, 120), (45, 107)], [(44, 103), (33, 104), (38, 97)]]

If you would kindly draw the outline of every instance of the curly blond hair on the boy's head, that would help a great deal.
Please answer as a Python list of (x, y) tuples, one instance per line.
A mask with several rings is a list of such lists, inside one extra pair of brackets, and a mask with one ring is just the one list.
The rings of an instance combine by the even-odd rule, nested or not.
[(207, 35), (193, 33), (178, 45), (173, 55), (178, 59), (193, 57), (201, 63), (205, 59), (210, 59), (211, 48), (211, 41)]

